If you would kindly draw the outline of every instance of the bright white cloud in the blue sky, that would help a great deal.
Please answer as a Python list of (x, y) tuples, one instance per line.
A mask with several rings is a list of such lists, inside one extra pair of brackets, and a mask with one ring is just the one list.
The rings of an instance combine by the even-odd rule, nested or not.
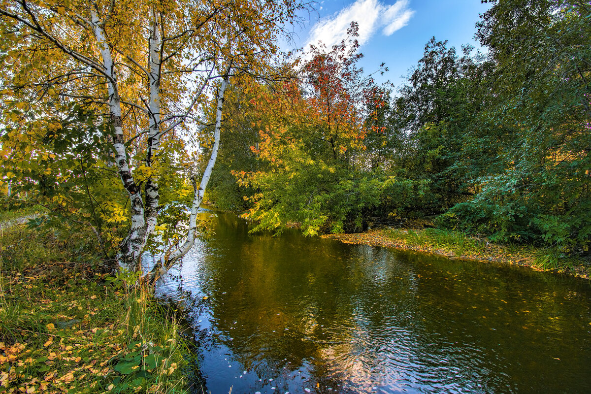
[(398, 0), (387, 5), (381, 0), (356, 0), (332, 17), (320, 19), (311, 29), (307, 45), (322, 41), (327, 48), (347, 37), (351, 22), (359, 24), (360, 45), (365, 44), (375, 31), (383, 27), (382, 34), (391, 35), (408, 24), (414, 11), (408, 8), (408, 0)]

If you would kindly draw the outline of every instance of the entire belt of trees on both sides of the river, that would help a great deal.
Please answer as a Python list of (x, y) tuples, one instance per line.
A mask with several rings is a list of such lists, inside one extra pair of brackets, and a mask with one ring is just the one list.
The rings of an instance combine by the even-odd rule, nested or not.
[[(164, 266), (180, 258), (206, 228), (206, 186), (255, 231), (425, 219), (589, 256), (587, 2), (493, 1), (476, 26), (483, 51), (433, 37), (397, 89), (358, 66), (355, 22), (338, 45), (278, 56), (282, 24), (307, 6), (212, 3), (185, 25), (167, 19), (184, 12), (173, 4), (144, 25), (107, 8), (85, 19), (48, 5), (51, 19), (2, 6), (5, 203), (43, 206), (35, 225), (66, 237), (92, 229), (112, 264), (145, 247)], [(129, 40), (144, 26), (150, 37)]]

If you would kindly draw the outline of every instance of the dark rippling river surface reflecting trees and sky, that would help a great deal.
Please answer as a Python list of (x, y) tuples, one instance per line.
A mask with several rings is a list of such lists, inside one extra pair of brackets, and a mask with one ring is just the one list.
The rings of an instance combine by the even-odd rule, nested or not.
[(180, 268), (205, 390), (591, 392), (588, 281), (217, 215)]

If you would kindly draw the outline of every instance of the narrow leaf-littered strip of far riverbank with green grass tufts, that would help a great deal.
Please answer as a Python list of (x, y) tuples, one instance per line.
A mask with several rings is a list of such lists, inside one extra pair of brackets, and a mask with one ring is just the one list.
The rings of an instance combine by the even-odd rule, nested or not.
[(372, 229), (357, 234), (327, 234), (325, 239), (344, 243), (385, 246), (434, 253), (451, 259), (501, 262), (528, 266), (537, 271), (561, 272), (589, 279), (589, 262), (561, 258), (554, 250), (523, 245), (504, 245), (486, 237), (470, 237), (461, 232), (439, 229)]

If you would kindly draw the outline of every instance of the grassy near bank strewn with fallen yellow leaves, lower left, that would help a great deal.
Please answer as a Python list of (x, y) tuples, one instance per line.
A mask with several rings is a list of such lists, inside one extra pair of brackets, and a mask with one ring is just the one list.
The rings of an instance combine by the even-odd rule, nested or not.
[(173, 309), (134, 276), (95, 273), (80, 239), (2, 230), (0, 392), (186, 392)]

